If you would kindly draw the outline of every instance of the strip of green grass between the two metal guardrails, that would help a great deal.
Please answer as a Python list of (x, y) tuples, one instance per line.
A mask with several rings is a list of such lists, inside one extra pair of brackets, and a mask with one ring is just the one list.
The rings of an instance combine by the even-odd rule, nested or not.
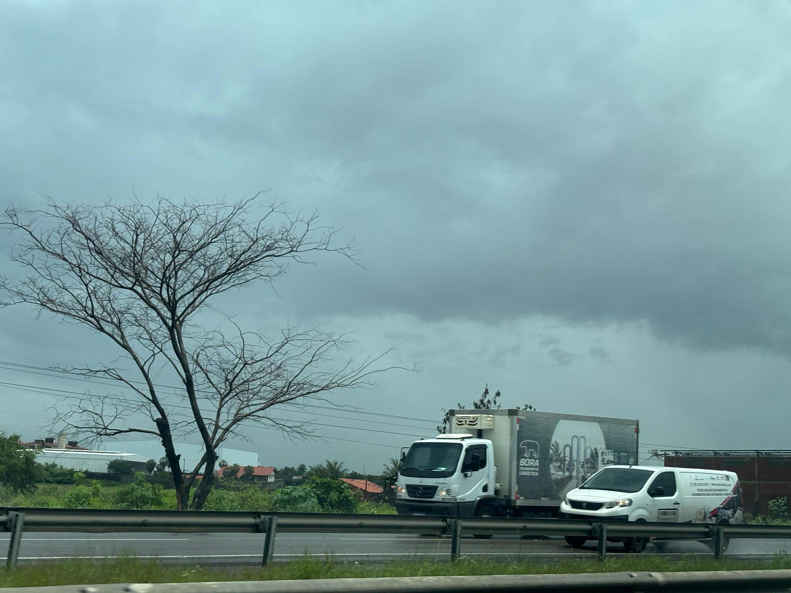
[(756, 570), (791, 568), (791, 557), (780, 554), (769, 561), (714, 561), (698, 557), (672, 560), (663, 557), (612, 558), (597, 564), (592, 561), (564, 561), (550, 564), (536, 562), (460, 561), (395, 562), (361, 565), (315, 558), (279, 563), (267, 568), (206, 567), (165, 565), (127, 557), (112, 561), (63, 561), (19, 566), (0, 572), (0, 587), (44, 587), (47, 585), (107, 583), (200, 583), (206, 581), (341, 579), (383, 576), (456, 576), (456, 575), (537, 575), (581, 572), (653, 571), (678, 572), (700, 570)]

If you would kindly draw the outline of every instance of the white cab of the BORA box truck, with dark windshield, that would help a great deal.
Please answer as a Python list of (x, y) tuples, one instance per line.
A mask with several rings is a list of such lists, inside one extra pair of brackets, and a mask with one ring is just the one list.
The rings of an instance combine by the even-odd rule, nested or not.
[(487, 516), (494, 498), (490, 440), (441, 434), (413, 443), (395, 485), (399, 515)]

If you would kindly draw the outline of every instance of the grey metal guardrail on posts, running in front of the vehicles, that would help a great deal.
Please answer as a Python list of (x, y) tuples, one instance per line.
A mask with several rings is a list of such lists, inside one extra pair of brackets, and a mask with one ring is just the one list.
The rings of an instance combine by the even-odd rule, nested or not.
[(237, 532), (265, 534), (262, 563), (271, 561), (278, 531), (285, 533), (403, 533), (452, 536), (451, 559), (461, 555), (461, 536), (559, 535), (596, 540), (599, 560), (607, 538), (711, 540), (722, 557), (730, 538), (789, 538), (791, 526), (713, 523), (649, 523), (579, 519), (510, 519), (404, 515), (335, 515), (225, 511), (115, 511), (69, 508), (0, 508), (0, 529), (11, 534), (7, 566), (17, 564), (23, 531), (80, 533)]

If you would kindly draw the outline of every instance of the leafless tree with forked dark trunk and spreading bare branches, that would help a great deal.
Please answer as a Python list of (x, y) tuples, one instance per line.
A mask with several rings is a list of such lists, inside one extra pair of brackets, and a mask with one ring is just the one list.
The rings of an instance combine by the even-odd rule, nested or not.
[[(85, 324), (114, 342), (138, 375), (110, 365), (66, 369), (117, 380), (134, 395), (85, 395), (59, 406), (53, 424), (94, 440), (133, 432), (160, 439), (180, 509), (202, 508), (219, 445), (244, 438), (244, 426), (312, 434), (309, 422), (272, 417), (272, 407), (332, 403), (331, 391), (371, 386), (374, 374), (388, 370), (377, 367), (384, 354), (334, 364), (333, 353), (348, 343), (343, 334), (287, 327), (272, 339), (225, 324), (235, 327), (229, 337), (202, 327), (200, 314), (218, 295), (272, 283), (318, 251), (357, 255), (331, 244), (335, 231), (320, 226), (316, 213), (269, 206), (251, 221), (257, 197), (199, 204), (157, 196), (153, 205), (98, 207), (50, 201), (44, 210), (9, 208), (2, 223), (21, 236), (12, 258), (28, 275), (0, 278), (0, 304), (29, 304)], [(155, 382), (162, 364), (180, 380), (176, 393)], [(182, 468), (173, 439), (195, 431), (202, 459)]]

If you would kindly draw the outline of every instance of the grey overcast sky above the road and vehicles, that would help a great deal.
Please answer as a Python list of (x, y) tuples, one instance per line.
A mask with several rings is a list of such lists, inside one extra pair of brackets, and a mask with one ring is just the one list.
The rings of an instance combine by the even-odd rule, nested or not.
[[(788, 448), (789, 6), (6, 2), (0, 202), (270, 189), (343, 226), (365, 268), (320, 258), (221, 308), (354, 331), (357, 357), (398, 343), (389, 361), (421, 369), (339, 402), (436, 420), (488, 383), (506, 406), (638, 418), (646, 450)], [(0, 310), (2, 361), (109, 351)], [(55, 400), (0, 394), (0, 429), (40, 436)], [(367, 444), (239, 447), (378, 471), (435, 425), (337, 415), (312, 418)]]

